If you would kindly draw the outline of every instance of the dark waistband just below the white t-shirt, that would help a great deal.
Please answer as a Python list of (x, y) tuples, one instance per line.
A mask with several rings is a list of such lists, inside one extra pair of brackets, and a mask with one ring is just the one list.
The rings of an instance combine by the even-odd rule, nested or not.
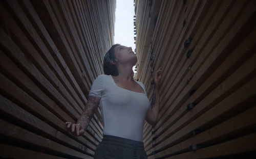
[(142, 141), (136, 141), (112, 135), (103, 135), (101, 143), (110, 143), (133, 149), (144, 150), (144, 144)]

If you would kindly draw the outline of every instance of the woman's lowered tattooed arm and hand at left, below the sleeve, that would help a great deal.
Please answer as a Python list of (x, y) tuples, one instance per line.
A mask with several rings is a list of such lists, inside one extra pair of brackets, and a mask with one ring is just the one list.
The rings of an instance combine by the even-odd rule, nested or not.
[[(81, 116), (77, 119), (76, 124), (66, 122), (67, 128), (70, 129), (71, 133), (76, 136), (81, 136), (84, 134), (84, 131), (87, 129), (95, 111), (98, 108), (100, 98), (89, 96), (86, 108), (83, 110)], [(76, 130), (76, 131), (75, 131)]]

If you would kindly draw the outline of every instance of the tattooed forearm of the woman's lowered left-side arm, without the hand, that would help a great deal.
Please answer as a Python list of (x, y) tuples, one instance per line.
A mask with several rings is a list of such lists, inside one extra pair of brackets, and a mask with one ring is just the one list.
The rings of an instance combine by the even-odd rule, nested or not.
[(95, 111), (99, 105), (99, 98), (97, 97), (88, 97), (88, 101), (86, 103), (86, 108), (83, 110), (81, 116), (77, 119), (77, 123), (81, 124), (84, 130), (87, 129)]

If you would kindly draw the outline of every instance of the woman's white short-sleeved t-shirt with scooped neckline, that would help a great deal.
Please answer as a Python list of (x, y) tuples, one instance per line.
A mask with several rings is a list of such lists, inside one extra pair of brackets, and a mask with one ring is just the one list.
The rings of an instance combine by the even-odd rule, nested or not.
[(88, 96), (100, 98), (103, 135), (143, 141), (143, 125), (150, 100), (145, 93), (118, 87), (111, 75), (101, 74), (94, 80)]

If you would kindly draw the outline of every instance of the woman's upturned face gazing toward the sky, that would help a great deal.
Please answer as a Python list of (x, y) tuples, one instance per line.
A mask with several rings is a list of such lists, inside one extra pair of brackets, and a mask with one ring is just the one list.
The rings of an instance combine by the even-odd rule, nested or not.
[(126, 47), (118, 45), (115, 47), (115, 57), (118, 64), (132, 64), (133, 66), (137, 63), (137, 56), (135, 55), (132, 47)]

